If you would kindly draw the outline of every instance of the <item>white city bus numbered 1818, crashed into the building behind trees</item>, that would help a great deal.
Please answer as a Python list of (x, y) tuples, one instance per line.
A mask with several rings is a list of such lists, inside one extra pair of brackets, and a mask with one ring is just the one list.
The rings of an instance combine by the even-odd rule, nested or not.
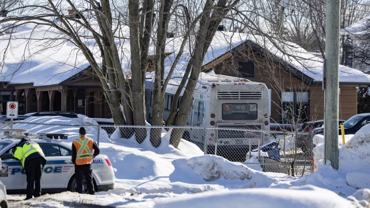
[[(152, 81), (146, 82), (146, 103), (148, 122), (151, 120), (153, 104)], [(165, 94), (164, 120), (168, 118), (172, 98), (178, 88), (178, 82), (172, 81)], [(192, 111), (188, 125), (197, 127), (215, 127), (207, 130), (207, 145), (216, 146), (218, 151), (242, 151), (266, 142), (259, 133), (216, 130), (216, 128), (242, 128), (252, 130), (270, 130), (268, 90), (264, 83), (252, 82), (225, 75), (202, 73), (193, 95)], [(197, 144), (203, 143), (194, 131), (185, 132), (185, 138)], [(250, 141), (251, 140), (251, 141)], [(226, 148), (225, 148), (226, 147)], [(213, 150), (214, 151), (214, 150)], [(244, 154), (245, 155), (245, 154)]]

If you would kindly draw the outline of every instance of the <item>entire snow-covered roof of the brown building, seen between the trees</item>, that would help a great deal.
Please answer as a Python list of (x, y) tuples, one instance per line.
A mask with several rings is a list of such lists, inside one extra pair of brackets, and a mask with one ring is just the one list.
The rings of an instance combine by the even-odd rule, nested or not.
[[(86, 36), (86, 34), (84, 35)], [(59, 39), (55, 40), (55, 38)], [(5, 53), (5, 59), (0, 61), (0, 81), (10, 82), (10, 84), (33, 83), (34, 87), (60, 85), (82, 70), (87, 69), (90, 65), (84, 55), (67, 38), (67, 36), (61, 35), (48, 26), (32, 24), (17, 28), (16, 33), (11, 35), (0, 36), (0, 52), (3, 54), (8, 49)], [(182, 37), (168, 39), (166, 52), (172, 53), (172, 55), (168, 55), (166, 58), (166, 72), (171, 68), (182, 40)], [(98, 64), (101, 64), (100, 52), (95, 40), (84, 37), (83, 41), (92, 51), (96, 60), (100, 62)], [(260, 50), (268, 51), (276, 58), (287, 63), (292, 69), (302, 73), (304, 77), (312, 79), (310, 81), (322, 81), (322, 58), (307, 52), (294, 43), (282, 42), (258, 35), (217, 32), (206, 53), (203, 66), (247, 43), (253, 43)], [(190, 58), (190, 50), (187, 45), (172, 75), (173, 77), (182, 77), (184, 73)], [(125, 74), (128, 74), (130, 73), (131, 59), (129, 41), (119, 42), (119, 51), (122, 69)], [(151, 51), (154, 50), (151, 49)], [(339, 82), (341, 84), (370, 84), (369, 77), (359, 70), (345, 66), (340, 66), (339, 70)]]

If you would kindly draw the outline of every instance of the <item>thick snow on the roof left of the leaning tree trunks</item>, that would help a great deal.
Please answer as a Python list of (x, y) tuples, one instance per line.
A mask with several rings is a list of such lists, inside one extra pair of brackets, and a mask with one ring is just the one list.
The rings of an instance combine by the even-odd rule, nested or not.
[(53, 28), (35, 28), (34, 24), (0, 36), (1, 54), (7, 50), (0, 80), (11, 84), (34, 83), (35, 87), (55, 85), (86, 69), (89, 63), (81, 51), (57, 37), (63, 38)]

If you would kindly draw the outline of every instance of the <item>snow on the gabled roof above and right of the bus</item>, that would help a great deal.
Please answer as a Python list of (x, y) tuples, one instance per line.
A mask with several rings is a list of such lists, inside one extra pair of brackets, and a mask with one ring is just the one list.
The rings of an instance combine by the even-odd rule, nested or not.
[[(309, 76), (313, 81), (322, 81), (323, 59), (304, 50), (292, 42), (279, 41), (259, 35), (248, 35), (230, 32), (217, 32), (213, 38), (203, 62), (203, 66), (231, 51), (237, 46), (251, 41), (283, 60), (294, 69)], [(339, 65), (339, 81), (351, 83), (369, 83), (370, 79), (362, 71)]]

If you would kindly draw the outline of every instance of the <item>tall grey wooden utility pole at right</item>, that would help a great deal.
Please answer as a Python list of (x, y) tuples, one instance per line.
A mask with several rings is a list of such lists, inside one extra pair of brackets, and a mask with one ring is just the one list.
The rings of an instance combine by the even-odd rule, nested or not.
[(338, 169), (338, 103), (339, 103), (339, 30), (340, 0), (326, 1), (326, 36), (324, 66), (324, 160)]

